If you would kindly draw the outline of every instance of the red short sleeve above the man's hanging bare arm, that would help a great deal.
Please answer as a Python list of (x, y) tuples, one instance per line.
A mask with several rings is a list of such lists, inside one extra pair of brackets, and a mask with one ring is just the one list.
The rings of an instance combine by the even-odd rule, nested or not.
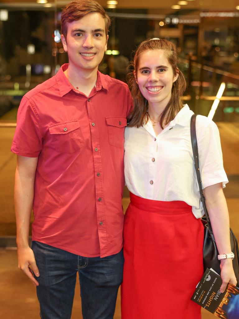
[(42, 147), (39, 119), (29, 99), (23, 97), (18, 108), (11, 152), (26, 157), (38, 157)]

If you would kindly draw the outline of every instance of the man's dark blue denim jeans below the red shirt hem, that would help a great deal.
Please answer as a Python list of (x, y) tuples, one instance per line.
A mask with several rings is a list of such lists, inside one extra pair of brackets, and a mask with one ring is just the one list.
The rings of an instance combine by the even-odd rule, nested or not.
[(70, 319), (79, 272), (84, 319), (112, 319), (123, 279), (123, 250), (118, 254), (82, 257), (38, 241), (32, 249), (40, 271), (37, 297), (42, 319)]

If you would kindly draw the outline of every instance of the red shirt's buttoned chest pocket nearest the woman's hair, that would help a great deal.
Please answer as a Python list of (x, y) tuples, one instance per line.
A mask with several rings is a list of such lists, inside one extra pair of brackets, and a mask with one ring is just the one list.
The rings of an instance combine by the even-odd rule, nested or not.
[(124, 132), (127, 126), (125, 117), (106, 117), (109, 144), (115, 147), (124, 147)]

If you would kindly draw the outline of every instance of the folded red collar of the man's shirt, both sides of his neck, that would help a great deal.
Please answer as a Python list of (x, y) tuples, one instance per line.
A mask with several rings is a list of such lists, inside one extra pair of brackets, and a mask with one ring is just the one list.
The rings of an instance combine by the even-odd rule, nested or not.
[[(56, 73), (56, 82), (58, 84), (61, 97), (74, 89), (73, 86), (70, 84), (68, 78), (64, 74), (64, 71), (67, 70), (68, 66), (69, 63), (63, 64), (60, 70)], [(105, 80), (105, 76), (99, 71), (97, 71), (97, 81), (95, 87), (97, 91), (103, 88), (109, 92), (109, 86)]]

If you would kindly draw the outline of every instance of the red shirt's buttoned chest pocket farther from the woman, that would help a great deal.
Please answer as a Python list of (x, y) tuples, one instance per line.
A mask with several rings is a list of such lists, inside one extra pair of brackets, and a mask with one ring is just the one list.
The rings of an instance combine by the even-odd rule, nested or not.
[(78, 120), (60, 122), (49, 127), (51, 147), (59, 153), (72, 154), (83, 147), (83, 137)]

